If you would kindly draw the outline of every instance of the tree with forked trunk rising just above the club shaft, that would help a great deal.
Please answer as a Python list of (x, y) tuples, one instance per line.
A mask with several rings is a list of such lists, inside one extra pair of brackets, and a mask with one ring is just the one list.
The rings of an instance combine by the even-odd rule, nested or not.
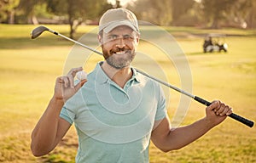
[(102, 10), (112, 7), (106, 0), (47, 0), (47, 4), (52, 14), (67, 17), (71, 38), (84, 20), (97, 19)]

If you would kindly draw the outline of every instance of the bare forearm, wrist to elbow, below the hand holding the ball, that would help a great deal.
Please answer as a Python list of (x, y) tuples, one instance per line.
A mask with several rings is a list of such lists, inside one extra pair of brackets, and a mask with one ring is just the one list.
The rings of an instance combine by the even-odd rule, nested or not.
[(45, 155), (55, 147), (58, 121), (63, 101), (52, 98), (44, 115), (32, 132), (31, 148), (34, 155)]

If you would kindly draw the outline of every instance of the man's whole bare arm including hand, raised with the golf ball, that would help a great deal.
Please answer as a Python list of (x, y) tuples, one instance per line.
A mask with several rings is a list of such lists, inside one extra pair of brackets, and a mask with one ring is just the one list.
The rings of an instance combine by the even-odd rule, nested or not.
[(54, 97), (49, 101), (44, 115), (42, 115), (32, 132), (31, 149), (33, 155), (48, 154), (60, 142), (71, 126), (69, 122), (60, 118), (60, 113), (64, 101), (73, 97), (79, 91), (79, 88), (87, 82), (84, 79), (74, 85), (74, 76), (80, 70), (83, 70), (83, 68), (73, 68), (68, 72), (67, 76), (56, 78)]

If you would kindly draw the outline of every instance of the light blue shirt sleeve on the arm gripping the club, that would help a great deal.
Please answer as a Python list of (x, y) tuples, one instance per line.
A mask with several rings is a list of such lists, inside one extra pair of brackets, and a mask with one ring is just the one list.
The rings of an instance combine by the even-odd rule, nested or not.
[(166, 117), (166, 97), (163, 89), (158, 85), (158, 104), (154, 121), (160, 121)]

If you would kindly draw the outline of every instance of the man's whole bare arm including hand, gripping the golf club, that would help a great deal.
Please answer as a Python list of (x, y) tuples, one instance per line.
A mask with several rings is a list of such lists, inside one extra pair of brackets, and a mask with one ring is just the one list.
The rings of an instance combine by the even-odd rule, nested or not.
[(189, 126), (172, 129), (168, 117), (164, 118), (152, 132), (151, 139), (159, 149), (165, 152), (181, 149), (224, 121), (231, 113), (232, 110), (228, 105), (213, 101), (206, 109), (206, 117)]

